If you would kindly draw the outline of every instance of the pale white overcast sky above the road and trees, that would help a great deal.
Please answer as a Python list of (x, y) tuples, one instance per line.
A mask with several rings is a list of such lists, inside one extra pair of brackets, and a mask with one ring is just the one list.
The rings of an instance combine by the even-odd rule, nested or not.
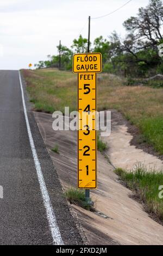
[[(74, 38), (87, 37), (87, 18), (102, 16), (128, 0), (0, 0), (0, 69), (28, 68), (29, 63), (56, 54), (61, 43), (71, 46)], [(145, 7), (149, 0), (132, 0), (116, 13), (91, 20), (91, 41), (112, 31), (125, 35), (122, 23)]]

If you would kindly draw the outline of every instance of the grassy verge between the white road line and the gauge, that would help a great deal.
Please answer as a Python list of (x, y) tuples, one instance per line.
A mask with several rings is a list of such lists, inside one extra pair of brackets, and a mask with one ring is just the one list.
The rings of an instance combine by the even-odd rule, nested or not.
[(74, 111), (77, 101), (76, 79), (71, 72), (56, 69), (22, 70), (30, 101), (36, 111), (64, 112), (65, 106)]

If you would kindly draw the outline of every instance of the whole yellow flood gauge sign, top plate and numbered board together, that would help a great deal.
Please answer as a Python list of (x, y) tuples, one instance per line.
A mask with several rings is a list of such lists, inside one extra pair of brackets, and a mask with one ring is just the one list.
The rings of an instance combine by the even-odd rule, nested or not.
[(78, 187), (97, 188), (97, 72), (102, 71), (101, 53), (73, 56), (78, 73)]

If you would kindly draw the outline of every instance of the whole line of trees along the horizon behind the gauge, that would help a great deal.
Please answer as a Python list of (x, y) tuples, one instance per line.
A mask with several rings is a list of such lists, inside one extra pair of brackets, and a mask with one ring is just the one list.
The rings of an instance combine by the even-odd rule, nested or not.
[[(150, 0), (147, 7), (139, 8), (135, 17), (124, 21), (125, 38), (112, 32), (107, 39), (99, 36), (91, 44), (91, 52), (101, 52), (103, 71), (130, 76), (148, 76), (154, 70), (163, 74), (163, 63), (158, 54), (158, 46), (163, 43), (163, 4), (161, 0)], [(87, 52), (87, 39), (82, 35), (73, 40), (71, 48), (57, 46), (61, 51), (61, 68), (72, 69), (74, 53)], [(48, 56), (48, 60), (35, 64), (36, 68), (58, 67), (59, 54)]]

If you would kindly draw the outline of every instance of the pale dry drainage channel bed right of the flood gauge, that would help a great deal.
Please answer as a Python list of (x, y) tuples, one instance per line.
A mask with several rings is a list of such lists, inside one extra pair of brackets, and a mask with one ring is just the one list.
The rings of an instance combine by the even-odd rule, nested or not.
[(111, 109), (111, 135), (103, 139), (108, 143), (106, 155), (115, 167), (133, 169), (137, 162), (141, 162), (149, 170), (162, 169), (163, 156), (143, 142), (139, 129), (114, 109)]

